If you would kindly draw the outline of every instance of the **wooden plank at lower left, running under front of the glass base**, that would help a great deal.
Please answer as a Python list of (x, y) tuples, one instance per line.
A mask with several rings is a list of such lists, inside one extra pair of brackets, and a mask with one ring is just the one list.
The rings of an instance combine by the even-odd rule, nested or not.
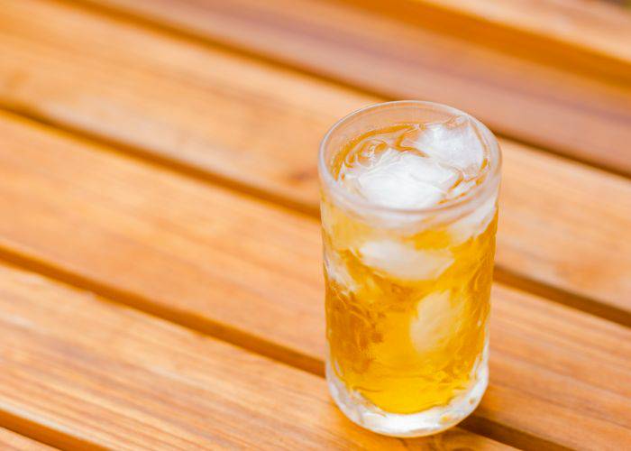
[(372, 434), (336, 411), (321, 378), (29, 272), (0, 266), (0, 291), (0, 422), (35, 420), (53, 441), (59, 431), (121, 450), (508, 449), (460, 428)]

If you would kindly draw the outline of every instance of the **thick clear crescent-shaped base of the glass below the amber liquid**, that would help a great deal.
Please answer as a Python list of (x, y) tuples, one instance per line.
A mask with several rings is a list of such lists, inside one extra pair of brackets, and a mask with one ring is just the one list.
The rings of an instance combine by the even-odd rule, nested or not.
[(418, 413), (398, 414), (381, 410), (360, 393), (348, 391), (326, 364), (326, 381), (335, 403), (352, 422), (378, 434), (392, 437), (423, 437), (442, 432), (467, 418), (482, 399), (489, 384), (487, 353), (478, 365), (475, 383), (446, 406), (434, 407)]

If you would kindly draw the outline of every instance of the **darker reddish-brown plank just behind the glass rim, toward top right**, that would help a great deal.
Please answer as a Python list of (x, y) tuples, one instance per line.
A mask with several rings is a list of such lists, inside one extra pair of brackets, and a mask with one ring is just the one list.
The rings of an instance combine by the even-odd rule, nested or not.
[[(631, 174), (631, 60), (455, 21), (453, 14), (407, 0), (84, 3), (390, 98), (457, 106), (498, 133)], [(618, 45), (629, 48), (631, 40)]]

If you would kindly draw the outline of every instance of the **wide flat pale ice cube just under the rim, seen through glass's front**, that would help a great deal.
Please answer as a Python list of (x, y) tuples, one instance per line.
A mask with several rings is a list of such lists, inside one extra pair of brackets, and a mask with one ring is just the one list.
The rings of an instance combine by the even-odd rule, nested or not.
[(417, 250), (392, 240), (370, 241), (360, 248), (361, 262), (404, 281), (439, 277), (453, 263), (446, 249)]

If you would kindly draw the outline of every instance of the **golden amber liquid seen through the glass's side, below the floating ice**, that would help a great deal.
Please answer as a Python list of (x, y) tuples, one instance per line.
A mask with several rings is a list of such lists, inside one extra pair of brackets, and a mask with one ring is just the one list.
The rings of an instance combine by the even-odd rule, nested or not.
[[(348, 391), (400, 414), (446, 405), (470, 388), (488, 342), (497, 208), (464, 241), (450, 224), (412, 233), (376, 229), (326, 195), (322, 210), (327, 339), (336, 377)], [(361, 244), (376, 239), (450, 260), (426, 277), (393, 275), (361, 254)]]

